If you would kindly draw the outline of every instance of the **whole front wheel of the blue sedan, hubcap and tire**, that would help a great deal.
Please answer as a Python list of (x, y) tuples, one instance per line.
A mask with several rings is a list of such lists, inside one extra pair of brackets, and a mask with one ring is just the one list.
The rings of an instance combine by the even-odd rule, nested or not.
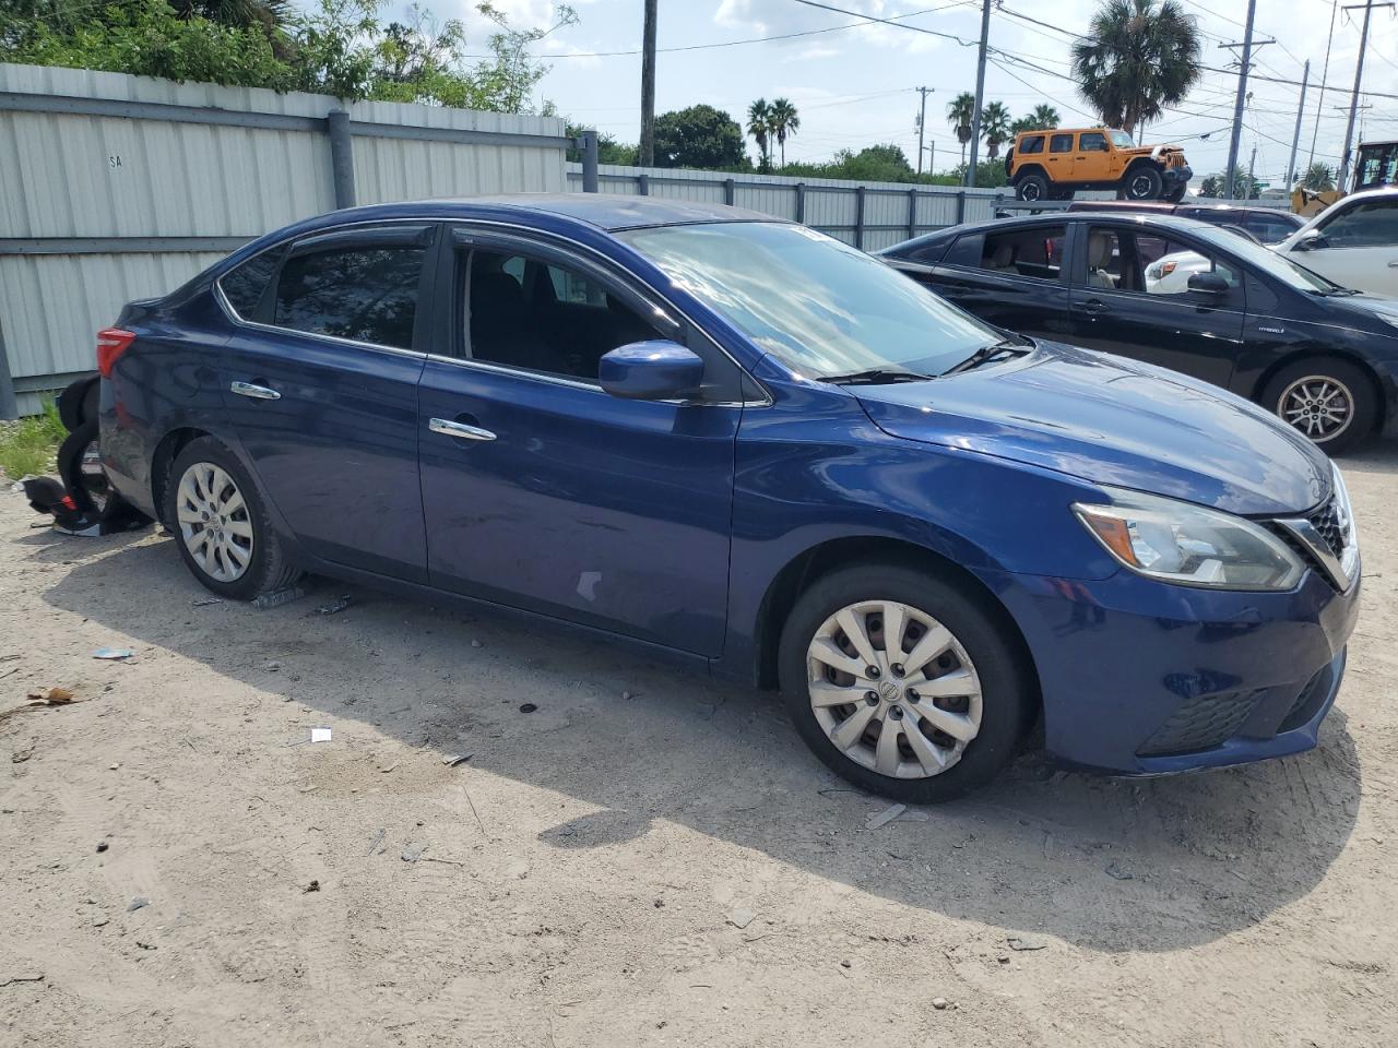
[(787, 619), (779, 661), (807, 745), (896, 801), (949, 801), (988, 783), (1035, 710), (1005, 626), (959, 587), (892, 565), (816, 580)]

